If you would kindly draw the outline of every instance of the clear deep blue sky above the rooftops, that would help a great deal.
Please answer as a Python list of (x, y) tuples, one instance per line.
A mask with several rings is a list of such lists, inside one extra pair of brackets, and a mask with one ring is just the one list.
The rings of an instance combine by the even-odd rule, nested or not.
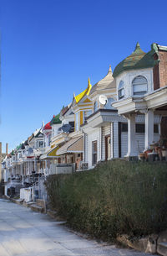
[(139, 44), (167, 45), (166, 1), (0, 0), (0, 141), (15, 148), (73, 91), (94, 85)]

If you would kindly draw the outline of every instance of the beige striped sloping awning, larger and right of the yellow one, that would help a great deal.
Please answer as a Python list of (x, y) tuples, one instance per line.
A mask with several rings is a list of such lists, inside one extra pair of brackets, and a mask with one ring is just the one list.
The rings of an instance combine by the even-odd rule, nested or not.
[(83, 136), (70, 139), (57, 151), (58, 155), (67, 153), (83, 153)]

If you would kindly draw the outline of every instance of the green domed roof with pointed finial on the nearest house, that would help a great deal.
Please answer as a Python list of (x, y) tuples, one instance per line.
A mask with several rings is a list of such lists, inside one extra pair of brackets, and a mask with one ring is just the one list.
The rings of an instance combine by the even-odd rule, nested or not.
[(156, 64), (153, 57), (154, 52), (153, 44), (152, 49), (148, 53), (144, 53), (137, 43), (134, 52), (115, 67), (113, 76), (119, 76), (123, 71), (153, 67)]

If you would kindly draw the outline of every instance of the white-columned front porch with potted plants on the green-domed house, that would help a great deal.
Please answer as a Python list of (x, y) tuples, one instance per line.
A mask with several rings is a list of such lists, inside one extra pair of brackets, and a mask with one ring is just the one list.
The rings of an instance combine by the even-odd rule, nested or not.
[[(128, 120), (129, 159), (164, 159), (167, 155), (167, 86), (145, 97), (131, 97), (113, 103)], [(136, 118), (143, 116), (143, 150), (137, 150)], [(157, 136), (156, 136), (157, 134)], [(164, 152), (163, 152), (164, 151)], [(143, 154), (144, 153), (144, 154)], [(163, 156), (164, 155), (164, 156)]]

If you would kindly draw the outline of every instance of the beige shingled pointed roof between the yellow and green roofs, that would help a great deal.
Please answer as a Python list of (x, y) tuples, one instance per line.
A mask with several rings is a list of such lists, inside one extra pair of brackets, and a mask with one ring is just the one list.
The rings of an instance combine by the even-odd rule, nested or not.
[(113, 73), (111, 70), (111, 65), (109, 65), (109, 71), (103, 79), (98, 81), (91, 89), (89, 95), (93, 94), (94, 91), (100, 91), (104, 89), (116, 88), (116, 84), (114, 81)]

